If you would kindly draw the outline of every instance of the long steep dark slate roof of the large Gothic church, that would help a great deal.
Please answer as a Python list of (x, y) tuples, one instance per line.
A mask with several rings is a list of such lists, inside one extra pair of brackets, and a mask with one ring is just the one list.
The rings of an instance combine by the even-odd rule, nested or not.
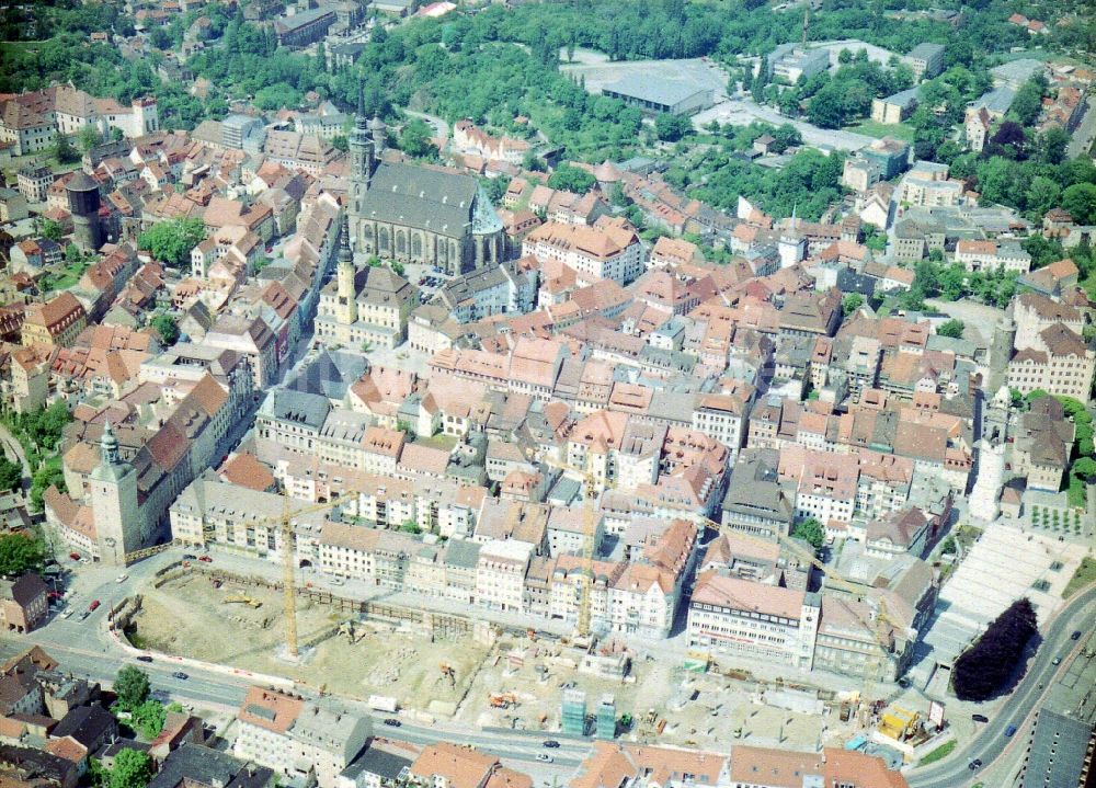
[(384, 161), (362, 199), (361, 216), (460, 238), (471, 225), (478, 187), (471, 175)]

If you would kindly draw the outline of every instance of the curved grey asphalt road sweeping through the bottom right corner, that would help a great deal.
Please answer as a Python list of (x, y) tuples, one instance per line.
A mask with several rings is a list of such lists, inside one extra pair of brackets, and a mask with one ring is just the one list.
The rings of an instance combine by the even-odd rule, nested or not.
[[(1044, 701), (1059, 675), (1069, 669), (1070, 661), (1066, 658), (1080, 651), (1082, 647), (1080, 641), (1071, 640), (1070, 635), (1077, 629), (1082, 632), (1091, 631), (1094, 626), (1096, 626), (1096, 586), (1075, 595), (1062, 608), (1043, 633), (1043, 642), (1028, 666), (1024, 679), (979, 735), (964, 746), (957, 747), (944, 761), (910, 772), (906, 775), (910, 788), (966, 785), (970, 780), (978, 779), (978, 775), (972, 774), (969, 768), (972, 760), (980, 758), (984, 769), (1003, 754), (1012, 754), (1015, 750), (1023, 749), (1028, 718)], [(1060, 665), (1052, 664), (1055, 656), (1062, 658)], [(1017, 732), (1012, 738), (1004, 734), (1008, 726), (1016, 726)]]

